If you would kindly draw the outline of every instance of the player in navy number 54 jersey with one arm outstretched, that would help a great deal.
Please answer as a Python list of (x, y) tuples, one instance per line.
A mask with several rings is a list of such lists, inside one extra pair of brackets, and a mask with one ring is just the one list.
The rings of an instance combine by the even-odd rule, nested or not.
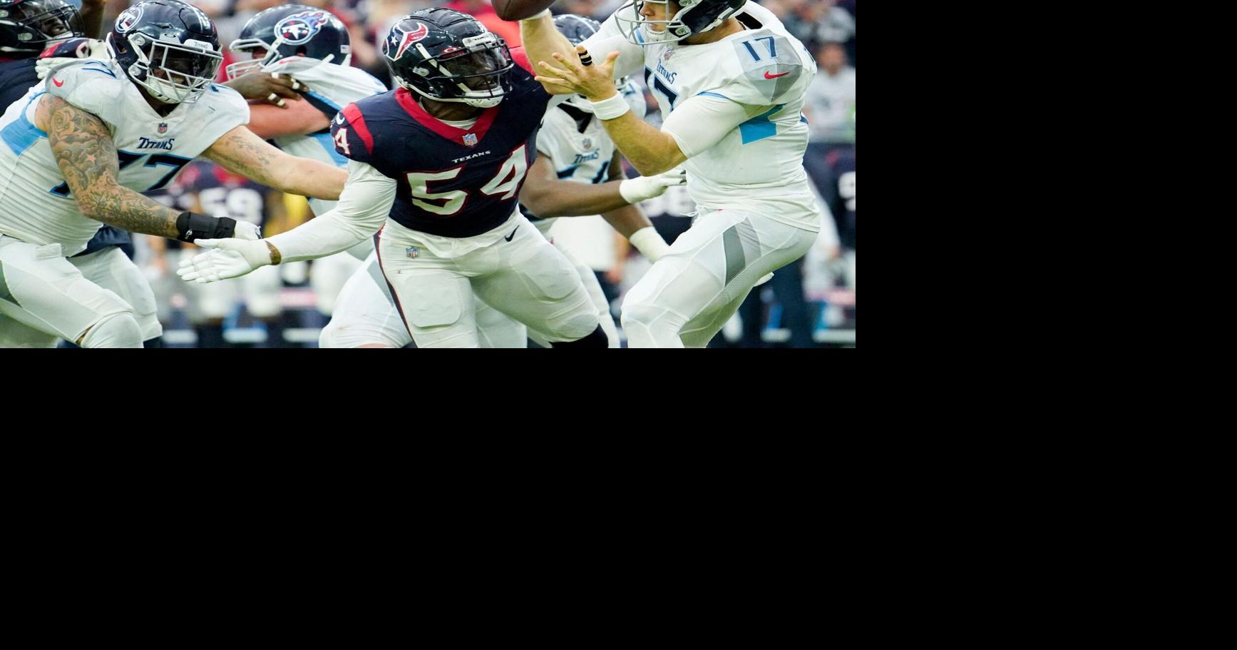
[(555, 347), (605, 348), (579, 275), (516, 210), (550, 95), (501, 38), (456, 11), (404, 17), (382, 52), (401, 88), (332, 124), (350, 161), (339, 207), (265, 245), (202, 241), (219, 250), (182, 262), (181, 276), (215, 281), (313, 259), (381, 227), (382, 271), (418, 347), (479, 347), (480, 297)]

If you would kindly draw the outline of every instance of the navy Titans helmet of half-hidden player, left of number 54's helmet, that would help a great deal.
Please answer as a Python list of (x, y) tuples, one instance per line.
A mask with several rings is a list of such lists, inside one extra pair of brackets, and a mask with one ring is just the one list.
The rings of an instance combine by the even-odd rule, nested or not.
[(303, 54), (338, 66), (348, 66), (353, 61), (353, 45), (344, 22), (330, 11), (306, 5), (283, 5), (260, 11), (241, 28), (240, 38), (228, 47), (235, 52), (257, 50), (266, 53), (252, 61), (229, 63), (229, 79), (283, 57)]

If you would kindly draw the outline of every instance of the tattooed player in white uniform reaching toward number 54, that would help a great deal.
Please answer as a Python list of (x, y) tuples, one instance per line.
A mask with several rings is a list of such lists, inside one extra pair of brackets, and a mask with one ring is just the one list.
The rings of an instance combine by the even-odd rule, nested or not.
[(197, 7), (152, 0), (124, 11), (113, 58), (56, 68), (0, 118), (0, 329), (28, 327), (82, 347), (141, 347), (132, 307), (67, 255), (100, 222), (184, 241), (255, 228), (177, 213), (139, 192), (203, 155), (271, 187), (338, 198), (346, 173), (271, 147), (244, 125), (249, 106), (210, 83), (221, 56)]

